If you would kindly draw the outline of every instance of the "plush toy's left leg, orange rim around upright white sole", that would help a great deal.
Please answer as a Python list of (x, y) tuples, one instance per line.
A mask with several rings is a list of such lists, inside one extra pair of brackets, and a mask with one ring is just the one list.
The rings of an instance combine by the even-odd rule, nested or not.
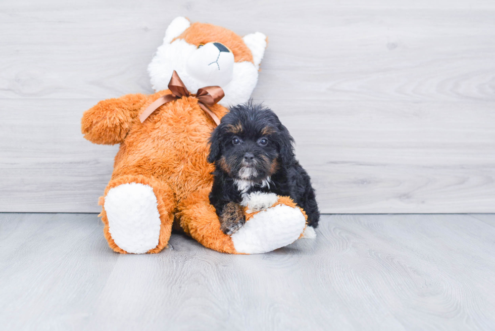
[(170, 239), (176, 203), (170, 187), (154, 178), (114, 178), (100, 199), (105, 238), (119, 253), (158, 253)]

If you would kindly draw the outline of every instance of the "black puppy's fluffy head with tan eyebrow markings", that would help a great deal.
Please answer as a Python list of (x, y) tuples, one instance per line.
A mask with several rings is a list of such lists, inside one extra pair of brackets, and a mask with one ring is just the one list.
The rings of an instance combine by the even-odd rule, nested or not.
[(293, 138), (262, 105), (232, 107), (210, 138), (208, 162), (234, 179), (262, 181), (294, 159)]

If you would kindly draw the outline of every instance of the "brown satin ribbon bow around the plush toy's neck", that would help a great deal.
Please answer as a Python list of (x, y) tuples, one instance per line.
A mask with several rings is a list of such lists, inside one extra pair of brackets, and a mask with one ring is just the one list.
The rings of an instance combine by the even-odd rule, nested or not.
[[(151, 115), (158, 107), (171, 102), (173, 100), (180, 99), (182, 97), (189, 97), (191, 94), (185, 87), (184, 83), (180, 79), (177, 72), (174, 70), (172, 74), (172, 78), (170, 78), (170, 82), (168, 83), (168, 88), (172, 91), (173, 94), (165, 94), (165, 96), (158, 98), (153, 102), (150, 106), (148, 106), (144, 112), (139, 115), (139, 120), (144, 122), (148, 116)], [(220, 120), (217, 115), (215, 115), (208, 107), (215, 105), (219, 102), (225, 93), (220, 86), (206, 86), (197, 90), (195, 97), (197, 98), (197, 104), (203, 109), (213, 121), (218, 125), (220, 124)]]

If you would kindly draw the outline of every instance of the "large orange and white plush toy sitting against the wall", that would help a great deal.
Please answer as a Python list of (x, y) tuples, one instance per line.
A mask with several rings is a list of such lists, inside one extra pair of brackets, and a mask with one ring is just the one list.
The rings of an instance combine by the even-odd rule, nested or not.
[[(234, 254), (269, 252), (302, 236), (306, 216), (287, 197), (257, 197), (246, 206), (248, 221), (231, 236), (220, 230), (208, 198), (213, 166), (207, 163), (207, 142), (214, 118), (250, 98), (265, 48), (262, 33), (240, 37), (178, 17), (149, 66), (157, 92), (101, 101), (84, 113), (86, 139), (120, 144), (99, 202), (105, 238), (114, 251), (158, 253), (173, 227), (208, 248)], [(167, 84), (174, 71), (185, 88), (172, 95)], [(220, 86), (225, 96), (216, 104), (205, 99), (207, 108), (199, 94), (192, 94), (205, 86)]]

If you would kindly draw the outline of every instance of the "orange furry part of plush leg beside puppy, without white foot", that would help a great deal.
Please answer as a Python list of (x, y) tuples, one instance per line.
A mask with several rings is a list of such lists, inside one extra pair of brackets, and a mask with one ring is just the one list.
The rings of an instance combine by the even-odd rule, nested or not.
[(205, 247), (223, 253), (237, 253), (230, 237), (220, 229), (215, 208), (208, 194), (211, 188), (202, 188), (179, 203), (180, 225), (194, 240)]

